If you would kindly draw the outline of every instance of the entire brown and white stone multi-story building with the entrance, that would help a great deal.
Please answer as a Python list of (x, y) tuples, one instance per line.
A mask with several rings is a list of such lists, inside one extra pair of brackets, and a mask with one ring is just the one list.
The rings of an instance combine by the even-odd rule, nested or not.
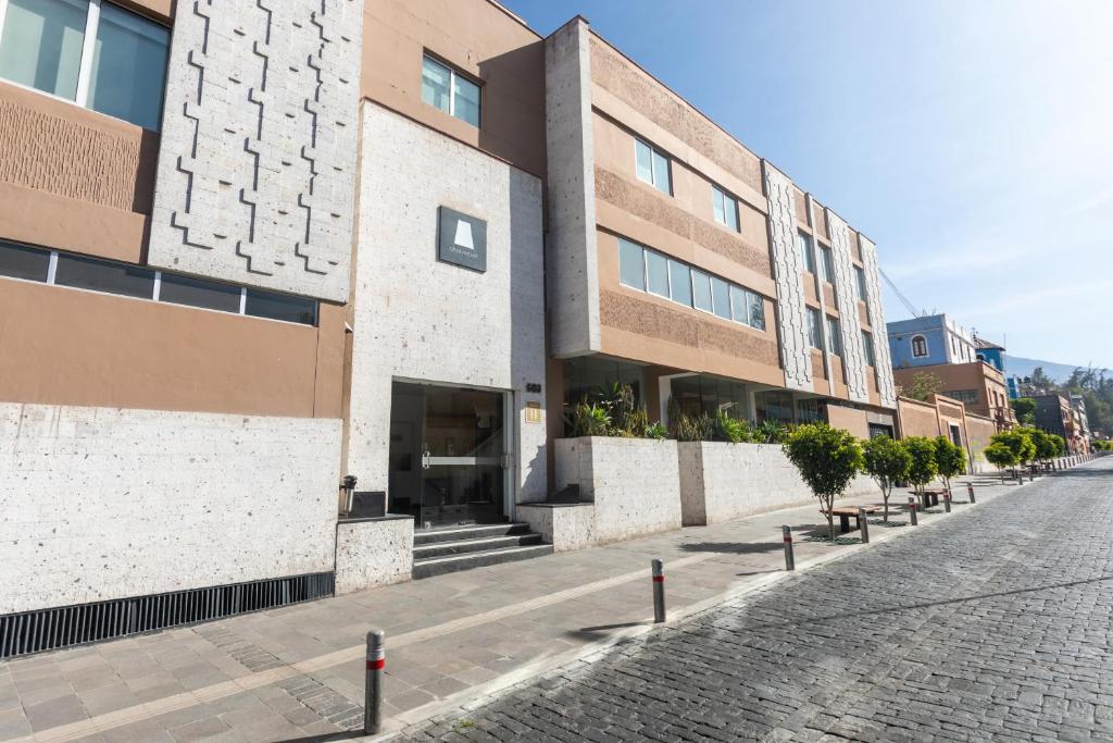
[(505, 521), (612, 379), (654, 418), (892, 431), (877, 275), (580, 18), (0, 0), (0, 635), (402, 579), (341, 565), (343, 476)]

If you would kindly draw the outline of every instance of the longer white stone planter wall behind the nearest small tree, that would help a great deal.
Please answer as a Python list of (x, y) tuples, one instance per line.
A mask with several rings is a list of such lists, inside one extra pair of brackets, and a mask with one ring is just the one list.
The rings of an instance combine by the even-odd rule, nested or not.
[[(680, 498), (684, 526), (703, 526), (816, 500), (780, 446), (680, 442)], [(880, 495), (859, 476), (846, 496)], [(818, 502), (818, 501), (817, 501)]]

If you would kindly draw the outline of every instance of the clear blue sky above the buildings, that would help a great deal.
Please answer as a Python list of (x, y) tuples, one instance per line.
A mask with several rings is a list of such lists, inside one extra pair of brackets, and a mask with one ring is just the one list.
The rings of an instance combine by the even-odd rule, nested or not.
[(544, 35), (584, 16), (873, 238), (915, 306), (1113, 368), (1113, 0), (503, 2)]

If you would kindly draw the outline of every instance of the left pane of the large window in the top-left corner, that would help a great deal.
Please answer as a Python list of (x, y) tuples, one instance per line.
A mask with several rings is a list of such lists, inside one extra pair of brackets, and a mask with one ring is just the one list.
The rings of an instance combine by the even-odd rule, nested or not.
[(88, 0), (8, 0), (0, 77), (73, 100)]

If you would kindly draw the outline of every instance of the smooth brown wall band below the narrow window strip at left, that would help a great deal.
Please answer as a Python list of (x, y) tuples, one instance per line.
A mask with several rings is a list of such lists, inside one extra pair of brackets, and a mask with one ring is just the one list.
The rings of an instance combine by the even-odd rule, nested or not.
[(0, 400), (338, 418), (342, 313), (321, 321), (0, 278)]

